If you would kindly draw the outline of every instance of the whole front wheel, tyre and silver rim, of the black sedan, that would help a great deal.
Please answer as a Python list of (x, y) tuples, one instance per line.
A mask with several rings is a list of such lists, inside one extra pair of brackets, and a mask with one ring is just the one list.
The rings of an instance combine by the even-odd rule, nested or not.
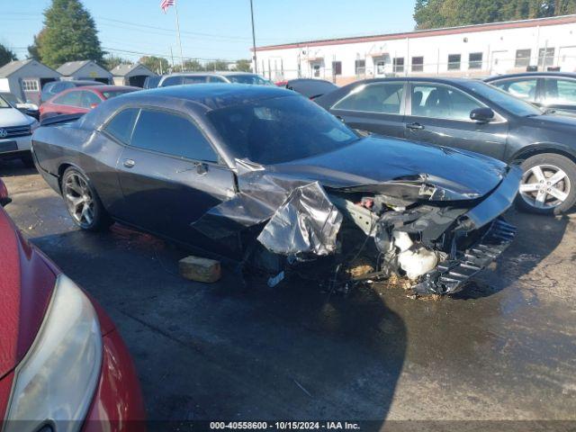
[(516, 200), (522, 211), (562, 214), (576, 202), (576, 165), (568, 157), (545, 153), (522, 163)]

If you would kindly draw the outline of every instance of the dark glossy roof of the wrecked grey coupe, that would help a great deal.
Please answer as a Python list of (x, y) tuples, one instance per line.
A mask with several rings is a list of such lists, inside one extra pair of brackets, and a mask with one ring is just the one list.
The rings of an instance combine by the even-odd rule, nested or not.
[[(130, 98), (134, 103), (146, 103), (147, 100), (158, 99), (190, 101), (200, 103), (209, 110), (225, 108), (239, 103), (253, 102), (259, 99), (289, 96), (294, 93), (284, 88), (272, 85), (171, 85), (168, 87), (141, 90), (130, 94), (122, 94), (123, 100)], [(116, 100), (119, 98), (115, 98)]]

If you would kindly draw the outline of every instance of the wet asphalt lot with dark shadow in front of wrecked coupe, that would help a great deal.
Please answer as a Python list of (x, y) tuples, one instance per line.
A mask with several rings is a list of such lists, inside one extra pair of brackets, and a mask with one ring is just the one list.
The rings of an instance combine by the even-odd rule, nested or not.
[(149, 419), (576, 420), (574, 215), (510, 211), (514, 244), (452, 298), (328, 296), (185, 281), (183, 250), (82, 232), (34, 170), (0, 176), (18, 227), (120, 329)]

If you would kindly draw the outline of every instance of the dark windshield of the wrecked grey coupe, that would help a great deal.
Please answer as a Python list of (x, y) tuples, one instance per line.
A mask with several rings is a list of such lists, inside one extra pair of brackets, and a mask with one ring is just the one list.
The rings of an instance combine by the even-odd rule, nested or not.
[(208, 113), (234, 152), (259, 164), (278, 164), (350, 145), (354, 131), (301, 95), (258, 100)]

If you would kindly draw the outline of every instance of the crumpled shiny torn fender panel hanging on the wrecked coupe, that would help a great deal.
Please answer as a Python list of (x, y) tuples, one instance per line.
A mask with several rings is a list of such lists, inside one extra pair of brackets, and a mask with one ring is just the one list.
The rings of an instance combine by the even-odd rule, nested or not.
[(268, 221), (258, 241), (275, 254), (332, 254), (342, 214), (320, 184), (297, 187)]

